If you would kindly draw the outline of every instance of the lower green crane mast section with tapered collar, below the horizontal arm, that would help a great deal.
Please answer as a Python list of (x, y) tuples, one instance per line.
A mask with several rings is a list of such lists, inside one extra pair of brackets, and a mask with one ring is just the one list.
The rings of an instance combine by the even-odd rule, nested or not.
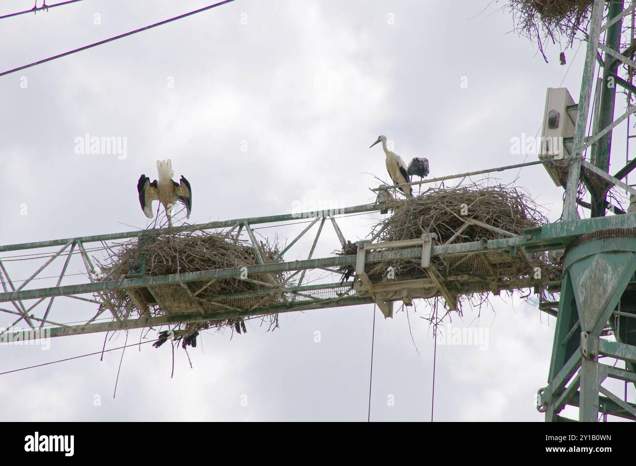
[[(632, 215), (617, 218), (621, 217), (624, 221)], [(576, 223), (585, 222), (586, 228), (606, 226), (612, 222), (611, 218)], [(564, 227), (560, 233), (572, 230), (567, 224)], [(544, 232), (541, 233), (543, 238)], [(607, 392), (601, 383), (609, 376), (607, 366), (599, 362), (598, 356), (614, 357), (627, 364), (636, 362), (636, 346), (600, 338), (635, 271), (634, 236), (590, 239), (571, 248), (564, 257), (549, 385), (541, 390), (540, 411), (546, 413), (546, 421), (555, 421), (566, 404), (579, 406), (579, 421), (597, 421), (600, 392)], [(614, 395), (605, 394), (612, 401)], [(621, 403), (619, 400), (618, 404)], [(621, 416), (629, 417), (630, 410), (623, 410)]]

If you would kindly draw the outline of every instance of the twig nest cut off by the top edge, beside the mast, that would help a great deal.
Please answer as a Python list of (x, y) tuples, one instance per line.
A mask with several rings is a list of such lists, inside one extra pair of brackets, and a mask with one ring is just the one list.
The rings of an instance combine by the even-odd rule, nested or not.
[(593, 0), (508, 0), (515, 29), (536, 41), (543, 57), (544, 45), (560, 43), (571, 47), (577, 34), (588, 29)]

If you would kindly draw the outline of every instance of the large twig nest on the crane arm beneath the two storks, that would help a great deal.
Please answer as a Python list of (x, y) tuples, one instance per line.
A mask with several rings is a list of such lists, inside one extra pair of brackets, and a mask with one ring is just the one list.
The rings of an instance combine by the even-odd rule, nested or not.
[[(378, 235), (377, 242), (413, 240), (424, 233), (435, 233), (437, 245), (480, 242), (522, 235), (523, 230), (548, 222), (529, 195), (501, 185), (432, 188), (414, 198), (392, 200), (389, 208), (392, 215), (371, 231), (370, 236)], [(355, 245), (345, 247), (340, 254), (356, 254)], [(541, 282), (558, 281), (561, 267), (546, 256), (520, 249), (481, 250), (433, 256), (431, 263), (447, 287), (458, 294), (471, 294), (538, 284), (537, 267)], [(389, 270), (394, 278), (388, 276)], [(365, 271), (373, 283), (429, 276), (419, 259), (370, 263)], [(354, 275), (352, 266), (343, 267), (341, 272), (345, 277)]]

